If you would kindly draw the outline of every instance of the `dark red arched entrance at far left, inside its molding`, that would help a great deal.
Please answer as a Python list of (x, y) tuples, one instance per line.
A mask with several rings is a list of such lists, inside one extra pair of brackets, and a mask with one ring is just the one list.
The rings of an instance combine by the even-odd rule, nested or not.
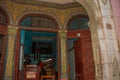
[(6, 12), (0, 7), (0, 80), (4, 76), (4, 62), (6, 53), (6, 42), (7, 42), (7, 24), (8, 17)]

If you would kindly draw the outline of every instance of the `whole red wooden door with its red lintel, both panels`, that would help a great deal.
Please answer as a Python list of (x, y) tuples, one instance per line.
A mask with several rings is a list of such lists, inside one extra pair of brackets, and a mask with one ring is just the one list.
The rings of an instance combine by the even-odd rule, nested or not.
[[(77, 34), (80, 36), (77, 36)], [(74, 42), (76, 80), (95, 80), (95, 65), (89, 30), (69, 31), (68, 38), (78, 38)]]

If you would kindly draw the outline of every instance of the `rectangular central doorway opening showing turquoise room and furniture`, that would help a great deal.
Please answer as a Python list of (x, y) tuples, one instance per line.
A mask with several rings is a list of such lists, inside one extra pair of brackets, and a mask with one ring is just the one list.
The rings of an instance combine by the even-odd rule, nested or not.
[(22, 79), (39, 80), (42, 75), (54, 75), (57, 78), (57, 59), (56, 33), (20, 30), (19, 70)]

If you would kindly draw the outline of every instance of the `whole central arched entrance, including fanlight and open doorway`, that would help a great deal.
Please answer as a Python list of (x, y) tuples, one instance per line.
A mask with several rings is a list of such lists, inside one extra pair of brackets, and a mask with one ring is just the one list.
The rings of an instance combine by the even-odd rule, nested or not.
[[(56, 20), (46, 14), (28, 14), (21, 18), (19, 25), (15, 80), (39, 80), (49, 74), (57, 78), (60, 64)], [(41, 62), (44, 67), (41, 67)]]

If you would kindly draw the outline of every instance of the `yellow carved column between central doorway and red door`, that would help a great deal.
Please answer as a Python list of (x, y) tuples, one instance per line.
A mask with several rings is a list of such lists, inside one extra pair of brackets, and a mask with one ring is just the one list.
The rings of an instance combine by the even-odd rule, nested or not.
[(59, 39), (60, 39), (60, 59), (61, 59), (61, 79), (60, 80), (68, 80), (68, 71), (67, 71), (67, 30), (60, 30), (59, 31)]

